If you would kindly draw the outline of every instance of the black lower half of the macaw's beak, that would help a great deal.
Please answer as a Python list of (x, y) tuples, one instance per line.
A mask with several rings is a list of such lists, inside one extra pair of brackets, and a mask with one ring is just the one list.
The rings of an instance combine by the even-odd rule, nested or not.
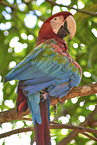
[(64, 22), (64, 25), (60, 27), (57, 34), (61, 38), (64, 38), (69, 34), (69, 31), (67, 29), (67, 22), (66, 21)]

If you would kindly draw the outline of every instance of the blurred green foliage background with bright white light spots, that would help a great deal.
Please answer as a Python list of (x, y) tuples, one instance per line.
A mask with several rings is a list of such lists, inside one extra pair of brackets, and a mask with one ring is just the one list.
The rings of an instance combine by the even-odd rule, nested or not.
[[(80, 10), (83, 12), (79, 12)], [(0, 0), (0, 112), (16, 107), (17, 81), (13, 80), (3, 85), (4, 76), (35, 47), (42, 23), (59, 11), (71, 12), (77, 23), (76, 35), (71, 41), (68, 41), (68, 38), (66, 41), (70, 55), (83, 70), (80, 85), (97, 82), (97, 15), (95, 15), (97, 0)], [(97, 94), (75, 97), (64, 105), (58, 104), (56, 115), (51, 106), (51, 120), (79, 126), (95, 109), (96, 104)], [(28, 117), (31, 116), (28, 115)], [(95, 121), (97, 113), (91, 119)], [(30, 126), (33, 124), (27, 120), (2, 123), (0, 134)], [(97, 123), (93, 128), (97, 129)], [(63, 139), (73, 134), (72, 130), (68, 129), (52, 129), (50, 133), (52, 145), (60, 144)], [(13, 143), (14, 145), (35, 145), (34, 132), (0, 139), (1, 145)], [(96, 145), (96, 142), (79, 133), (67, 144)]]

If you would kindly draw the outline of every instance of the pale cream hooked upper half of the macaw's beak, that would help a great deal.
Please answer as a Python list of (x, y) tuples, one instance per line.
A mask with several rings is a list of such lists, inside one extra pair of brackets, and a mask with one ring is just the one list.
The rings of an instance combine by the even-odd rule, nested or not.
[(65, 21), (67, 22), (67, 30), (70, 34), (69, 40), (71, 40), (74, 37), (75, 32), (76, 32), (76, 22), (75, 22), (75, 19), (71, 15), (68, 16)]

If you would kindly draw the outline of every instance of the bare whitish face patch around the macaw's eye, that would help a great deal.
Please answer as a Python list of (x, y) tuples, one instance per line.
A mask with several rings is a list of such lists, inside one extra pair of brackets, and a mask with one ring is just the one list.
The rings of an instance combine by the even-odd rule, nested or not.
[(64, 25), (64, 17), (62, 15), (58, 16), (58, 17), (54, 17), (50, 21), (50, 24), (51, 24), (51, 28), (53, 29), (54, 33), (57, 34), (60, 27)]

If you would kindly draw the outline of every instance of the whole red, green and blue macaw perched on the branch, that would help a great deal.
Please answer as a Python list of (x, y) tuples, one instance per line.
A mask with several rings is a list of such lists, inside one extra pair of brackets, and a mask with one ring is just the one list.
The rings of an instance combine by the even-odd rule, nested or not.
[(63, 40), (67, 35), (71, 40), (75, 32), (70, 12), (52, 15), (41, 26), (35, 48), (5, 76), (5, 82), (19, 80), (17, 113), (29, 107), (37, 145), (50, 145), (49, 98), (67, 95), (81, 81), (81, 67)]

